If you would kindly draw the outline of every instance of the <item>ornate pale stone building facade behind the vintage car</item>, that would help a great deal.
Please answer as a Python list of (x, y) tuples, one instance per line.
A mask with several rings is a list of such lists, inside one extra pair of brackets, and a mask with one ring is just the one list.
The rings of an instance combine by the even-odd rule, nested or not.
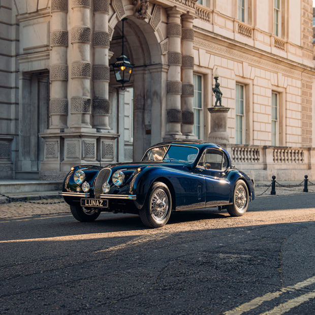
[[(127, 89), (110, 64), (135, 65)], [(207, 141), (215, 70), (237, 166), (315, 178), (311, 0), (0, 0), (0, 169), (62, 178)]]

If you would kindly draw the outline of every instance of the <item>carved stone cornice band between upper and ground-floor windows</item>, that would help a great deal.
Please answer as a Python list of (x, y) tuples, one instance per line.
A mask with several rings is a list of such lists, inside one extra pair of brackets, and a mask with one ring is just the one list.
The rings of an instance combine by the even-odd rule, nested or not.
[[(194, 47), (203, 48), (211, 54), (218, 52), (220, 55), (228, 56), (235, 61), (245, 61), (251, 66), (262, 66), (273, 72), (281, 72), (293, 77), (300, 76), (301, 68), (309, 75), (315, 75), (315, 68), (302, 65), (299, 62), (274, 55), (196, 26), (194, 26), (194, 31)], [(231, 43), (234, 45), (233, 49)], [(260, 54), (261, 57), (254, 56), (254, 54)]]

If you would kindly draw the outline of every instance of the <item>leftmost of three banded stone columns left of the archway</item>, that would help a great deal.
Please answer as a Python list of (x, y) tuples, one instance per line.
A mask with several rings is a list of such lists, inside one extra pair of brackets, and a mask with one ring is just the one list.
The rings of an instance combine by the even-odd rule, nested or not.
[(68, 1), (51, 0), (50, 129), (67, 128), (68, 117)]

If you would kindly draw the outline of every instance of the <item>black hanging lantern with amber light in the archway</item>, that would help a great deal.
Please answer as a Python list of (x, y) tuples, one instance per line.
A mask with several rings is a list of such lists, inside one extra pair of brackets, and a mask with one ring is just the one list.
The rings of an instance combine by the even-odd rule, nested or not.
[(122, 84), (121, 89), (124, 90), (125, 87), (123, 86), (125, 83), (128, 83), (131, 78), (132, 70), (134, 68), (134, 64), (129, 61), (129, 58), (123, 53), (123, 44), (124, 44), (124, 29), (123, 29), (123, 22), (127, 20), (126, 18), (122, 19), (122, 53), (117, 58), (114, 64), (111, 64), (116, 81)]

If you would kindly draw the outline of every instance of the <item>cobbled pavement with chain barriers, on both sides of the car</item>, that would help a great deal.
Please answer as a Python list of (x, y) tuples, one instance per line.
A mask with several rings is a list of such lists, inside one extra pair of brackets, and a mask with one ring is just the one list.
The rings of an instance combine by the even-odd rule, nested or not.
[[(300, 182), (286, 181), (280, 184), (286, 186), (296, 186)], [(270, 196), (271, 187), (270, 182), (258, 182), (256, 183), (255, 193), (258, 198), (264, 198)], [(275, 196), (284, 196), (292, 194), (308, 194), (303, 193), (303, 183), (298, 187), (281, 187), (276, 186)], [(308, 185), (308, 192), (315, 193), (315, 185)], [(263, 194), (264, 193), (264, 194)], [(21, 194), (8, 194), (14, 202), (8, 203), (9, 199), (6, 197), (0, 198), (0, 218), (15, 218), (15, 217), (27, 217), (35, 215), (57, 214), (57, 213), (69, 213), (69, 205), (62, 202), (63, 199), (58, 196), (58, 192), (38, 192), (38, 193), (21, 193)], [(262, 196), (259, 196), (263, 194)], [(19, 200), (19, 201), (17, 201)], [(314, 201), (315, 204), (315, 201)]]

